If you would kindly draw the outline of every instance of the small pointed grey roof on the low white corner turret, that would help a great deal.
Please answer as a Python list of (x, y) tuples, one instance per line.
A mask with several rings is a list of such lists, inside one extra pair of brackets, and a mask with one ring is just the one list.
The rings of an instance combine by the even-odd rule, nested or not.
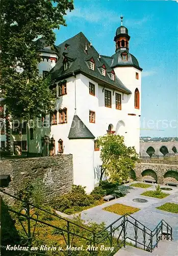
[(87, 126), (77, 116), (73, 116), (70, 132), (68, 135), (69, 139), (94, 139), (94, 135), (90, 132)]

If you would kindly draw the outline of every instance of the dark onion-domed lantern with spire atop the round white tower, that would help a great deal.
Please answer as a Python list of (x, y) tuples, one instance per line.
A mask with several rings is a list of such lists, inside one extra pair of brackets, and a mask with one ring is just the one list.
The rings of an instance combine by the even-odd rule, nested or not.
[(120, 16), (121, 26), (116, 30), (116, 36), (114, 41), (116, 42), (116, 52), (127, 51), (129, 52), (129, 40), (130, 36), (128, 34), (128, 29), (122, 26), (123, 16)]

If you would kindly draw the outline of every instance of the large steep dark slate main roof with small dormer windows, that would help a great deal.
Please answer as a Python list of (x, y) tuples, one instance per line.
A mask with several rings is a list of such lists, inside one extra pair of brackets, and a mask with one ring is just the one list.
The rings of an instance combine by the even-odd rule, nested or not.
[[(65, 50), (65, 46), (67, 49)], [(85, 52), (87, 46), (88, 54)], [(110, 62), (106, 61), (103, 56), (99, 59), (99, 53), (92, 46), (85, 35), (80, 32), (79, 34), (69, 38), (57, 47), (59, 52), (59, 59), (56, 66), (50, 71), (54, 80), (61, 80), (73, 74), (82, 73), (85, 76), (96, 80), (102, 86), (108, 86), (115, 90), (122, 91), (126, 94), (131, 94), (131, 91), (124, 86), (124, 84), (115, 77), (113, 81), (110, 77), (112, 68)], [(64, 56), (69, 60), (69, 67), (66, 71), (63, 70)], [(89, 69), (89, 60), (93, 58), (95, 61), (95, 70)], [(106, 76), (101, 74), (101, 66), (106, 66)]]

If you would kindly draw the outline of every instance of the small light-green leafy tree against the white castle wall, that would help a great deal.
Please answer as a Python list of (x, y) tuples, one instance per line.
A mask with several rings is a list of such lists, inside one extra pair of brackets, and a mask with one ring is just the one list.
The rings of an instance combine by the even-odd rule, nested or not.
[(100, 158), (102, 161), (100, 183), (105, 175), (112, 182), (121, 182), (129, 177), (135, 166), (138, 154), (134, 147), (126, 147), (123, 136), (108, 134), (98, 138), (101, 147)]

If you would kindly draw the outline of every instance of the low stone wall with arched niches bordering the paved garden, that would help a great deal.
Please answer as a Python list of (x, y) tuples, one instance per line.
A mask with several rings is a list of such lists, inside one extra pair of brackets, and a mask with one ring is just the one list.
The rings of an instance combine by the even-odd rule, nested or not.
[(157, 183), (165, 184), (168, 181), (178, 183), (178, 162), (165, 160), (140, 159), (135, 166), (137, 180), (143, 177), (154, 179)]

